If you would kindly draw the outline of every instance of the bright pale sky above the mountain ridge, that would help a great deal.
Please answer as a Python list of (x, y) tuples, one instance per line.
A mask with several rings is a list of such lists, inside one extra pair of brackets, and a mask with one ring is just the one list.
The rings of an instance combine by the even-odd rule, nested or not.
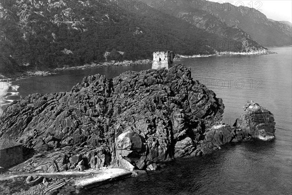
[[(292, 0), (210, 0), (229, 2), (233, 5), (240, 6), (241, 3), (246, 7), (257, 9), (267, 16), (268, 19), (277, 21), (292, 22)], [(233, 2), (231, 2), (233, 1)]]

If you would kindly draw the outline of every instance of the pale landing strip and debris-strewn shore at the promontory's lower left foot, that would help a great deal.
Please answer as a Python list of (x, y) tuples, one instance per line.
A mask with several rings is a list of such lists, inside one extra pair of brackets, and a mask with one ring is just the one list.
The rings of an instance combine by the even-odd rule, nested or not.
[[(11, 174), (0, 174), (0, 189), (4, 194), (11, 194), (11, 186), (9, 186), (9, 184), (13, 185), (21, 182), (22, 184), (18, 187), (18, 190), (20, 191), (12, 193), (12, 195), (28, 195), (31, 193), (43, 194), (46, 192), (48, 193), (49, 191), (52, 193), (69, 191), (74, 192), (75, 194), (80, 194), (84, 189), (100, 186), (130, 176), (138, 176), (135, 174), (133, 175), (133, 173), (135, 172), (129, 171), (124, 167), (109, 167), (106, 169), (89, 169), (84, 171), (63, 171), (57, 173), (12, 172)], [(141, 174), (142, 173), (139, 175)], [(28, 178), (33, 178), (35, 181), (29, 181)], [(64, 185), (52, 188), (54, 183), (60, 183), (62, 180), (67, 180)], [(8, 186), (5, 186), (5, 183), (7, 183)], [(23, 185), (23, 183), (26, 184)], [(27, 185), (29, 186), (28, 188), (24, 187)]]

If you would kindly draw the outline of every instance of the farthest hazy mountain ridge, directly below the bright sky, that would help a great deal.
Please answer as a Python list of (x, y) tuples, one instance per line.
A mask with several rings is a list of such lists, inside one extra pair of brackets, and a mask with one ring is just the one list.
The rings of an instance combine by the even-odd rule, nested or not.
[(242, 29), (252, 39), (261, 42), (264, 47), (292, 45), (290, 22), (270, 20), (255, 8), (246, 6), (236, 7), (230, 3), (224, 3), (221, 7), (225, 7), (225, 11), (219, 11), (220, 8), (210, 10), (206, 6), (202, 9), (209, 10), (229, 26), (237, 26)]

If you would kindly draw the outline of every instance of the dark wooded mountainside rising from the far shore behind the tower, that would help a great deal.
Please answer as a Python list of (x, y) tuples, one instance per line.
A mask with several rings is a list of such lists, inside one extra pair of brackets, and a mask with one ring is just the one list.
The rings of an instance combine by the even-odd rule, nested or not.
[[(248, 27), (233, 25), (226, 14), (197, 9), (195, 1), (0, 2), (2, 74), (100, 62), (111, 51), (123, 52), (116, 56), (123, 60), (151, 59), (159, 50), (198, 55), (265, 49)], [(289, 28), (274, 23), (287, 34), (281, 46)]]

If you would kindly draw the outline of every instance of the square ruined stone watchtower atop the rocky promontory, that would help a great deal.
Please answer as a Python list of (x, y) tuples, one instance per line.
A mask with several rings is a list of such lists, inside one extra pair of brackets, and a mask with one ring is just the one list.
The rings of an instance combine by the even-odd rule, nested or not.
[(174, 53), (171, 51), (167, 52), (154, 52), (152, 69), (166, 68), (169, 69), (173, 62)]

